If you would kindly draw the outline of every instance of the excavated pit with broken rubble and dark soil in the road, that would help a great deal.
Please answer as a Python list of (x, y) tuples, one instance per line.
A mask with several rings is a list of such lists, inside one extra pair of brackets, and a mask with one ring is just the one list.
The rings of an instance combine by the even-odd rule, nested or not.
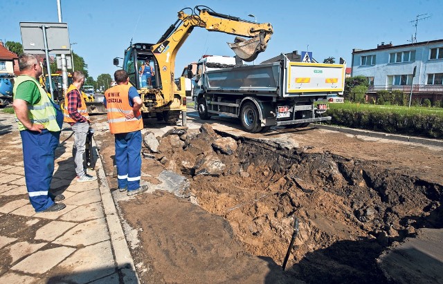
[(294, 279), (388, 283), (380, 254), (419, 228), (443, 225), (442, 184), (382, 163), (231, 137), (208, 124), (159, 142), (156, 160), (189, 178), (184, 194), (226, 219), (246, 252), (281, 265), (298, 218), (287, 265)]

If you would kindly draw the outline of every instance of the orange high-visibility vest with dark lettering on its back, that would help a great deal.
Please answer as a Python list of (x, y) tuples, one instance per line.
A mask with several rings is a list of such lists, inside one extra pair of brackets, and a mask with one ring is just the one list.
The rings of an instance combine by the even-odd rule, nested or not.
[(109, 130), (112, 134), (129, 133), (143, 129), (140, 111), (131, 120), (127, 120), (125, 117), (126, 114), (132, 112), (132, 106), (129, 105), (130, 87), (129, 84), (120, 84), (107, 89), (105, 92)]

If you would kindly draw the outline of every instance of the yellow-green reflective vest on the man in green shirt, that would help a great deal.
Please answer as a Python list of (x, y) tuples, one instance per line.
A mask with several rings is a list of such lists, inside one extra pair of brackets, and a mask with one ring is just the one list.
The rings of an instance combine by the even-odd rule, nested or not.
[[(60, 131), (60, 126), (57, 124), (57, 113), (54, 107), (54, 102), (51, 100), (51, 98), (46, 94), (46, 91), (44, 91), (44, 88), (37, 82), (37, 80), (33, 77), (30, 77), (28, 75), (20, 75), (15, 79), (15, 84), (12, 92), (15, 94), (17, 93), (17, 87), (19, 84), (26, 82), (26, 81), (32, 81), (35, 83), (37, 88), (40, 91), (40, 100), (37, 102), (37, 104), (28, 104), (28, 119), (33, 124), (43, 124), (45, 129), (48, 129), (48, 131)], [(25, 130), (26, 127), (18, 120), (17, 115), (15, 116), (15, 121), (19, 124), (19, 131)]]

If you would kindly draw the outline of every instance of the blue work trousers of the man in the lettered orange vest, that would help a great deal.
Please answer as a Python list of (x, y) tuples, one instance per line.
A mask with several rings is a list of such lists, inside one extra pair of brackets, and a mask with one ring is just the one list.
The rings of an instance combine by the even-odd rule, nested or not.
[(115, 138), (118, 188), (127, 188), (127, 191), (138, 189), (141, 176), (141, 131), (118, 133)]

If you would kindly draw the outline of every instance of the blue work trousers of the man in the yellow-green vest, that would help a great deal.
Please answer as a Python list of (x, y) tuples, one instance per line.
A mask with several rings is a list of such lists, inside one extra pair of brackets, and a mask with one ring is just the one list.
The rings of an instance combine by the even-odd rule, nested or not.
[(54, 204), (48, 191), (53, 180), (55, 149), (59, 143), (60, 131), (43, 129), (42, 133), (38, 133), (23, 130), (20, 135), (30, 204), (36, 212), (44, 211)]

